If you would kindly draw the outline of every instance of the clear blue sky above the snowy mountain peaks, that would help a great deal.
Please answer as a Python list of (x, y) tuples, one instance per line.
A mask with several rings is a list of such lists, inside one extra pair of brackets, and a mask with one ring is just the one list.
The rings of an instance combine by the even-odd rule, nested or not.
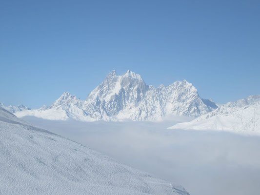
[(259, 0), (23, 0), (0, 4), (0, 101), (81, 99), (112, 70), (186, 79), (225, 103), (260, 94)]

